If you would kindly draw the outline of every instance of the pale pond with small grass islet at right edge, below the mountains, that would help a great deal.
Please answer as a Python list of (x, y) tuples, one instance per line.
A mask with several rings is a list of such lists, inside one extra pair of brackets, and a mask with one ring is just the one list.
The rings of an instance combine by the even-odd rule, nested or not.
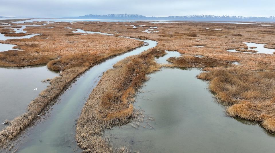
[[(275, 52), (275, 49), (265, 48), (264, 47), (265, 44), (261, 44), (261, 43), (247, 43), (247, 42), (244, 42), (244, 43), (247, 45), (248, 50), (256, 50), (256, 51), (258, 51), (256, 53), (273, 54), (273, 52)], [(256, 48), (249, 48), (249, 47), (256, 47)], [(247, 52), (247, 51), (236, 51), (235, 49), (228, 49), (227, 51), (230, 51), (230, 52), (253, 53), (253, 52)]]

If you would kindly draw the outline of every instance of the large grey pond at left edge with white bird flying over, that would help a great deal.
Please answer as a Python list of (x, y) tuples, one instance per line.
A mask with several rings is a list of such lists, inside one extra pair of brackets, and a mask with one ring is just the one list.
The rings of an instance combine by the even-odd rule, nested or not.
[[(46, 65), (0, 67), (0, 122), (23, 114), (28, 104), (49, 85), (42, 81), (58, 74)], [(1, 129), (4, 127), (0, 124)]]

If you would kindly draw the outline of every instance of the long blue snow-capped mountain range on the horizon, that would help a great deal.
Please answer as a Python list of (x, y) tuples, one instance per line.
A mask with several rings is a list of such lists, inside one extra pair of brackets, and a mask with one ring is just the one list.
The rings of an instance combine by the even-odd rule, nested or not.
[(108, 15), (84, 15), (79, 17), (63, 17), (63, 19), (127, 19), (127, 20), (179, 20), (179, 21), (275, 21), (270, 17), (243, 17), (243, 16), (217, 16), (217, 15), (187, 15), (168, 17), (146, 17), (138, 14), (108, 14)]

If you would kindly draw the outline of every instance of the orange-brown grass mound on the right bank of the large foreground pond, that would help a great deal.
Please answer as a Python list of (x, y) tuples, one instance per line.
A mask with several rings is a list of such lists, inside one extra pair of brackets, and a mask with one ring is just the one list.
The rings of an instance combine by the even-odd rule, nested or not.
[(210, 80), (210, 90), (224, 105), (227, 114), (259, 122), (275, 132), (275, 72), (242, 69), (216, 69), (198, 75)]

